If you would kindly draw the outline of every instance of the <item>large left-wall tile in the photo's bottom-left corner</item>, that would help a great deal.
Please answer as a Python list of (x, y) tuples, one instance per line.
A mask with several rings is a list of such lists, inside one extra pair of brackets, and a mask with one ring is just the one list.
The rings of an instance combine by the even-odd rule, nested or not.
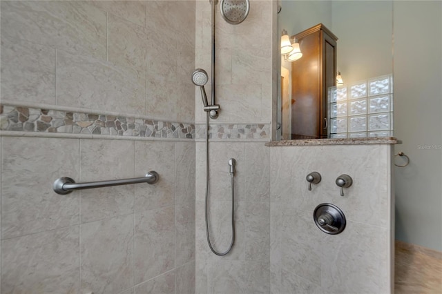
[(78, 226), (1, 242), (2, 293), (79, 293)]

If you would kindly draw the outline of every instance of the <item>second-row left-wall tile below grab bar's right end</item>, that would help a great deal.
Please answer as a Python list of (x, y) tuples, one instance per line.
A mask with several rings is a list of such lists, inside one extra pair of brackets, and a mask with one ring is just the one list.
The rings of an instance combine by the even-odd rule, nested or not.
[(135, 217), (135, 284), (175, 266), (174, 207), (137, 213)]

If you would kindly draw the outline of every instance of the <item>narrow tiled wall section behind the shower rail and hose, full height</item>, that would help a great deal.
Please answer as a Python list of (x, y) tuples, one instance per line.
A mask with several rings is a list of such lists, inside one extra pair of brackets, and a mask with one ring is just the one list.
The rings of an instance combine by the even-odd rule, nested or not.
[[(232, 26), (215, 14), (216, 103), (209, 143), (209, 222), (213, 247), (231, 241), (231, 178), (235, 158), (236, 241), (218, 257), (206, 242), (204, 222), (205, 144), (200, 92), (195, 92), (196, 128), (196, 293), (269, 293), (270, 291), (270, 140), (273, 1), (252, 0), (247, 19)], [(211, 68), (211, 5), (196, 4), (195, 67)], [(206, 86), (211, 91), (211, 85)], [(202, 135), (201, 135), (202, 134)]]

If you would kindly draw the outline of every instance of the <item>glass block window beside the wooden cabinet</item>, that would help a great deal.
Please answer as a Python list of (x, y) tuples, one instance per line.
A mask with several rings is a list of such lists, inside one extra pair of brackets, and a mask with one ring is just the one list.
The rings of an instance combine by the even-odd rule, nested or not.
[(328, 90), (331, 138), (391, 137), (393, 77), (383, 75)]

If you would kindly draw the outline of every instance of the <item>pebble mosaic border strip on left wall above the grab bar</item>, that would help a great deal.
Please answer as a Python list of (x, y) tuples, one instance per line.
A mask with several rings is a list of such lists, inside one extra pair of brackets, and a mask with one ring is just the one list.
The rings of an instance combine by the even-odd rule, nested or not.
[(70, 112), (27, 106), (8, 106), (5, 104), (0, 104), (0, 130), (195, 139), (194, 124), (121, 115), (100, 115), (98, 113)]

